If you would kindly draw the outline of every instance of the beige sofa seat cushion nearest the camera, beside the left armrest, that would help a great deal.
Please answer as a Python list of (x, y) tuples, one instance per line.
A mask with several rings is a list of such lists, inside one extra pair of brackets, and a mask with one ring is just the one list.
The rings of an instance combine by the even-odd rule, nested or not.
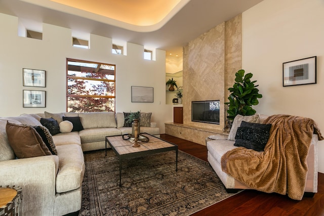
[(57, 146), (59, 170), (56, 176), (56, 192), (63, 193), (81, 187), (85, 162), (79, 145)]

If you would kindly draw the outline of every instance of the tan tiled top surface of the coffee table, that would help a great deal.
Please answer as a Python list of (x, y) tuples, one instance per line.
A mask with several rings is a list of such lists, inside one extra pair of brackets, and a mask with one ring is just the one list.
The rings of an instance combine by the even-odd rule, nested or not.
[(145, 136), (149, 138), (149, 142), (138, 142), (140, 147), (132, 147), (134, 143), (130, 142), (129, 140), (123, 140), (123, 136), (106, 137), (106, 139), (119, 155), (175, 146), (174, 144), (168, 143), (148, 134), (145, 134)]

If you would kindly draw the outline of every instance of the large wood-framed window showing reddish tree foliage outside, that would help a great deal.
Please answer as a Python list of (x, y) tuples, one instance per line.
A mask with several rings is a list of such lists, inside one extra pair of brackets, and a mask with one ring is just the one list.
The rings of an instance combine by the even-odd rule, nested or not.
[(67, 59), (67, 111), (114, 112), (116, 66)]

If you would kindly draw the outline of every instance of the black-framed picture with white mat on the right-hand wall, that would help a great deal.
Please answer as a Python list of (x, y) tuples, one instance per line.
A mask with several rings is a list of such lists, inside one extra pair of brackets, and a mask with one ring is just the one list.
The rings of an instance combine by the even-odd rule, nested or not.
[(316, 83), (316, 56), (282, 63), (284, 87)]

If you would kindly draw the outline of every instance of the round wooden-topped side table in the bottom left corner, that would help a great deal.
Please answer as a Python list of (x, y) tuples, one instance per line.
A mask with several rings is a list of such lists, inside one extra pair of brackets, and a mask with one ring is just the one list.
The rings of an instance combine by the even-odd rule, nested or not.
[(0, 186), (0, 216), (19, 216), (21, 215), (21, 188)]

